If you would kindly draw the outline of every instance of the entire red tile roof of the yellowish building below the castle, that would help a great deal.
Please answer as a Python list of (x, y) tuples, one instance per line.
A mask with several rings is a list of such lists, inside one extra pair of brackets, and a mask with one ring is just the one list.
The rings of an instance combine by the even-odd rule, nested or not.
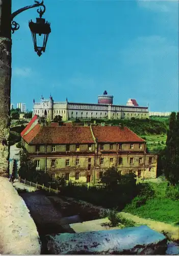
[[(92, 132), (99, 143), (145, 142), (127, 127), (93, 126)], [(94, 143), (89, 126), (41, 126), (36, 124), (23, 136), (28, 144)]]

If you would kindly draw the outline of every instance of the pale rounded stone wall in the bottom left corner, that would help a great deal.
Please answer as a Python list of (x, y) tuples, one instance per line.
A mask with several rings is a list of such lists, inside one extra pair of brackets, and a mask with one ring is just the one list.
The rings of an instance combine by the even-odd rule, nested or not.
[(23, 199), (7, 178), (0, 177), (0, 253), (40, 254), (36, 225)]

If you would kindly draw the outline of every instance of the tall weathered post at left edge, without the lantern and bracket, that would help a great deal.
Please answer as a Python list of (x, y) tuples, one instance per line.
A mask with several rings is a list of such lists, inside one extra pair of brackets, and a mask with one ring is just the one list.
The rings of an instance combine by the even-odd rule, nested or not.
[(11, 0), (0, 0), (0, 176), (9, 176)]

